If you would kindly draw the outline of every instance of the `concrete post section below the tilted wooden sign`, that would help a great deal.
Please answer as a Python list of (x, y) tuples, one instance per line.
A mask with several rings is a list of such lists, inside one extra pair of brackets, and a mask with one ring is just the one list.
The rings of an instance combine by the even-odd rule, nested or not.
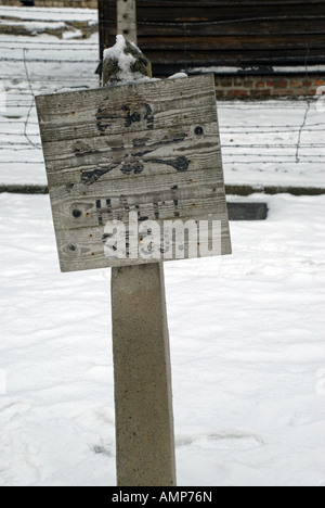
[(112, 274), (118, 486), (174, 486), (162, 264)]

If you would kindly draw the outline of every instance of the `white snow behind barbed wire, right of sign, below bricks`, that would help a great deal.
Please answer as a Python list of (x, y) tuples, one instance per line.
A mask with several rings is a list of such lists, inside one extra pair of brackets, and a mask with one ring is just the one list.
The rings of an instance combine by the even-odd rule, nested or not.
[(324, 188), (324, 114), (312, 98), (303, 125), (307, 107), (306, 100), (219, 102), (226, 183)]

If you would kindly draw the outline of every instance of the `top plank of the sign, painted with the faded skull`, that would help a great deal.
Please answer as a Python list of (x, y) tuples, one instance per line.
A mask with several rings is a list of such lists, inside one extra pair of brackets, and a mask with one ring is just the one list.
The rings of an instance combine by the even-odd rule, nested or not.
[[(147, 130), (212, 122), (216, 96), (208, 86), (211, 78), (200, 79), (184, 79), (182, 91), (177, 90), (177, 80), (148, 82), (146, 97), (139, 96), (139, 85), (60, 93), (60, 101), (57, 94), (40, 96), (42, 139), (53, 142), (128, 132), (141, 137)], [(197, 87), (199, 82), (207, 84), (208, 93)]]

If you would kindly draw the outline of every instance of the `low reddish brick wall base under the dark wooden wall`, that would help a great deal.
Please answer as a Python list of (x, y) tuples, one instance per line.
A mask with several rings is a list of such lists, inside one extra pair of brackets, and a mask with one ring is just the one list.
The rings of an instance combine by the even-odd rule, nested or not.
[(298, 98), (315, 96), (318, 87), (325, 86), (325, 75), (216, 75), (217, 97), (227, 99)]

